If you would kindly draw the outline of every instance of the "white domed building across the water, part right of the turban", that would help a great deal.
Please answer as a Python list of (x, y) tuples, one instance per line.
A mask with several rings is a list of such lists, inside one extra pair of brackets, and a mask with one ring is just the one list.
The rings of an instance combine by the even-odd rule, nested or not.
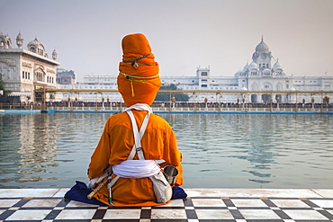
[[(272, 66), (273, 65), (273, 66)], [(213, 76), (210, 67), (199, 67), (196, 76), (162, 76), (163, 84), (175, 84), (182, 90), (243, 90), (261, 91), (247, 95), (248, 102), (269, 102), (265, 91), (321, 91), (333, 90), (333, 76), (286, 75), (278, 59), (275, 60), (263, 38), (252, 55), (252, 62), (234, 76)], [(201, 98), (207, 95), (202, 95)], [(287, 94), (276, 94), (281, 102), (292, 102)], [(209, 96), (213, 98), (213, 95)], [(226, 102), (235, 102), (235, 96), (225, 95)], [(236, 99), (238, 96), (236, 96)], [(309, 102), (309, 99), (308, 99)]]

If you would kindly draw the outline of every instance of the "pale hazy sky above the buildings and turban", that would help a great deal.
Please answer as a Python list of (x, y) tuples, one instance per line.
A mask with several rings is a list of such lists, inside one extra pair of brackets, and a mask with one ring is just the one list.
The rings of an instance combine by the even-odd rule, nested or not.
[[(62, 68), (118, 75), (121, 39), (144, 33), (163, 75), (232, 76), (261, 37), (287, 75), (333, 75), (333, 0), (0, 0), (0, 31), (37, 37)], [(326, 73), (326, 74), (325, 74)]]

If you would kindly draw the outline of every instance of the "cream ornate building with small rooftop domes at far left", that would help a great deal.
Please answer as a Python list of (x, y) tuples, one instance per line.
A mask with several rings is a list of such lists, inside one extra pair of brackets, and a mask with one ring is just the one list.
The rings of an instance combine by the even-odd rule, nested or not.
[(34, 94), (38, 87), (56, 88), (58, 53), (52, 52), (52, 59), (37, 38), (31, 40), (27, 49), (23, 49), (23, 36), (16, 37), (17, 49), (12, 49), (9, 36), (0, 33), (0, 75), (4, 81), (4, 89), (12, 91), (12, 102), (41, 101), (43, 96), (49, 101), (51, 95)]

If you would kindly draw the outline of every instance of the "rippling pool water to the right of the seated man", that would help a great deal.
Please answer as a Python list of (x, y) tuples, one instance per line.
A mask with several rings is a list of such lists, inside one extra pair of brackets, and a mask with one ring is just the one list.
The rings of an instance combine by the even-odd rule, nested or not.
[(329, 115), (182, 114), (169, 121), (191, 186), (328, 188), (333, 182)]

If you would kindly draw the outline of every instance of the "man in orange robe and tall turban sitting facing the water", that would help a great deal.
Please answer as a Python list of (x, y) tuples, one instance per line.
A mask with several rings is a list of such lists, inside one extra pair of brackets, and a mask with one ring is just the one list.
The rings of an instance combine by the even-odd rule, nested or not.
[[(178, 170), (175, 186), (183, 184), (182, 155), (176, 147), (176, 138), (166, 120), (151, 113), (160, 87), (158, 64), (151, 53), (148, 40), (143, 34), (130, 34), (122, 39), (122, 62), (118, 75), (118, 90), (127, 109), (113, 114), (107, 120), (102, 137), (91, 156), (88, 177), (94, 179), (103, 174), (112, 165), (109, 179), (112, 185), (104, 186), (94, 198), (114, 206), (157, 206), (166, 202), (157, 202), (153, 183), (149, 177), (161, 172), (166, 165)], [(132, 113), (134, 119), (130, 119)], [(151, 113), (151, 114), (150, 114)], [(148, 116), (148, 123), (143, 123)], [(134, 120), (134, 122), (132, 122)], [(136, 123), (136, 124), (135, 124)], [(138, 130), (144, 124), (145, 131), (136, 147), (137, 153), (129, 158), (137, 140), (133, 129)], [(134, 127), (134, 128), (133, 128)], [(143, 128), (143, 127), (142, 127)], [(142, 132), (141, 132), (142, 134)], [(143, 156), (139, 156), (139, 150)], [(144, 161), (140, 161), (144, 159)], [(164, 160), (157, 164), (157, 160)], [(109, 168), (110, 169), (110, 168)], [(148, 170), (147, 170), (148, 169)], [(106, 179), (104, 179), (106, 180)], [(101, 183), (101, 182), (100, 182)], [(109, 200), (112, 195), (112, 200)]]

